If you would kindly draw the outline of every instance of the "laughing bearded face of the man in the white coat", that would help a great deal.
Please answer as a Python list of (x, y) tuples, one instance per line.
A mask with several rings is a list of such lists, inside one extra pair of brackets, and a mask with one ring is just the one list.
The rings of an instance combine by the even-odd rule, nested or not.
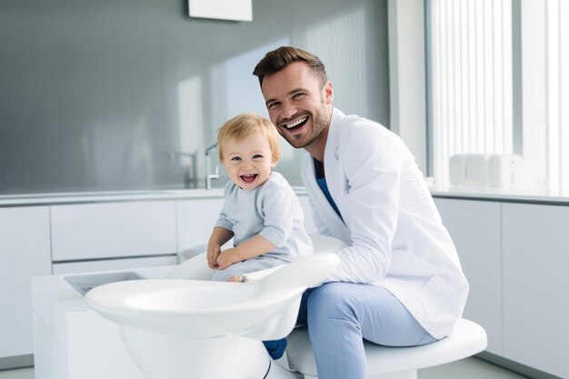
[(332, 85), (323, 87), (304, 62), (265, 75), (261, 90), (271, 121), (290, 145), (309, 146), (330, 125)]

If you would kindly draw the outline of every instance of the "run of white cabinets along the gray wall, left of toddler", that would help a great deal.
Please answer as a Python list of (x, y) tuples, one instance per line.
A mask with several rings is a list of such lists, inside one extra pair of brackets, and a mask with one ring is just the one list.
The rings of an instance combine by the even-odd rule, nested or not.
[(207, 242), (222, 204), (219, 197), (177, 209), (175, 200), (0, 208), (0, 359), (10, 358), (0, 369), (21, 357), (31, 363), (33, 276), (176, 264), (179, 249)]

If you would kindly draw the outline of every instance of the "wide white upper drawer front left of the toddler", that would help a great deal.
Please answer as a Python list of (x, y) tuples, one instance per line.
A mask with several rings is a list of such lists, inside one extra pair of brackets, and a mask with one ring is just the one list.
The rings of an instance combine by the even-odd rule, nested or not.
[(175, 254), (175, 203), (51, 207), (53, 261)]

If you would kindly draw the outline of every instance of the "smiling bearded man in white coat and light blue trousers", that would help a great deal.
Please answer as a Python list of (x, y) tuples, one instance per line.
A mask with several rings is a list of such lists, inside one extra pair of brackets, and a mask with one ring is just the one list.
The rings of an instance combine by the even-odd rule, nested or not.
[(334, 108), (317, 56), (283, 46), (256, 65), (279, 134), (304, 148), (318, 232), (347, 244), (328, 283), (303, 296), (320, 379), (364, 379), (364, 339), (429, 344), (451, 333), (468, 294), (458, 255), (401, 138)]

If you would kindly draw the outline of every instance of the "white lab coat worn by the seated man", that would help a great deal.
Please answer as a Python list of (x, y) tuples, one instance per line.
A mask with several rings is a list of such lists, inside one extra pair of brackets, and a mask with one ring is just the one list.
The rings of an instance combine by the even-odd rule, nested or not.
[(344, 241), (330, 281), (383, 285), (440, 339), (461, 317), (468, 282), (414, 156), (382, 125), (334, 108), (324, 151), (326, 200), (306, 154), (302, 177), (321, 234)]

